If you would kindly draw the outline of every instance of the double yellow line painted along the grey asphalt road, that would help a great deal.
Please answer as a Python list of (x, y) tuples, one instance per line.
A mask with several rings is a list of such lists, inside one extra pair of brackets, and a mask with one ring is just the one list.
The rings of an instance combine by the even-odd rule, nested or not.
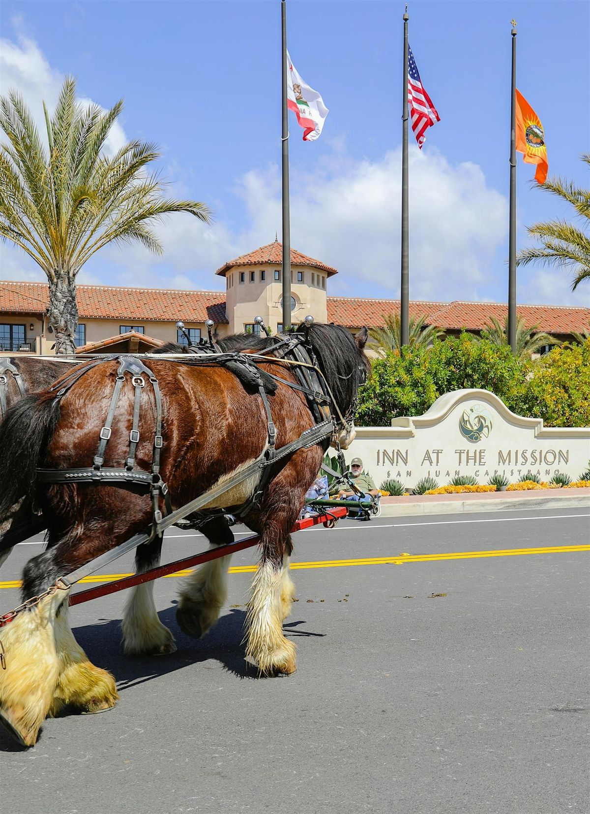
[[(361, 565), (405, 565), (409, 562), (438, 562), (441, 560), (458, 559), (481, 559), (486, 557), (520, 557), (525, 554), (579, 554), (583, 551), (590, 551), (590, 545), (552, 545), (545, 548), (536, 549), (495, 549), (492, 551), (458, 551), (452, 554), (395, 554), (389, 557), (363, 557), (360, 559), (346, 560), (315, 560), (313, 562), (292, 562), (291, 569), (297, 571), (303, 568), (344, 568)], [(230, 574), (249, 574), (256, 571), (255, 565), (242, 565), (228, 569)], [(174, 574), (167, 574), (167, 577), (189, 576), (193, 569), (175, 571)], [(98, 574), (85, 576), (82, 582), (113, 582), (122, 580), (125, 576), (132, 574)], [(8, 580), (0, 582), (2, 588), (20, 588), (20, 580)]]

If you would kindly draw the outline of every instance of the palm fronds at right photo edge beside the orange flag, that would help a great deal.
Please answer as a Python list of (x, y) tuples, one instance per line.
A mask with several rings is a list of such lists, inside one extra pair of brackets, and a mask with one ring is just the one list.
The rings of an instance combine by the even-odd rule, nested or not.
[[(590, 154), (582, 155), (582, 160), (590, 164)], [(574, 274), (571, 286), (574, 291), (582, 280), (590, 278), (590, 238), (586, 234), (590, 219), (590, 191), (575, 186), (573, 182), (562, 181), (561, 178), (551, 178), (540, 186), (568, 201), (581, 217), (582, 223), (578, 227), (566, 221), (549, 221), (530, 226), (528, 234), (539, 238), (542, 246), (518, 252), (516, 263), (527, 265), (532, 260), (540, 260), (544, 265), (570, 269)]]

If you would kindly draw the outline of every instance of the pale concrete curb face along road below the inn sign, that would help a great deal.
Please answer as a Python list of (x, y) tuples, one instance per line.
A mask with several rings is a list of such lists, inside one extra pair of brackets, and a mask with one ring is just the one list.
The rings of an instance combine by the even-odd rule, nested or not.
[(462, 512), (522, 511), (527, 509), (590, 509), (588, 495), (559, 497), (526, 497), (523, 499), (498, 497), (495, 500), (427, 501), (420, 503), (381, 502), (381, 517), (406, 517), (411, 514), (461, 514)]

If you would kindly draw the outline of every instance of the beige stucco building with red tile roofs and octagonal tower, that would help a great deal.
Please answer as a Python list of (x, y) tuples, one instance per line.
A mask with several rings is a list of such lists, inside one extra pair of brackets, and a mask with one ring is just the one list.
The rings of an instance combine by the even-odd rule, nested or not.
[[(221, 337), (257, 330), (260, 315), (273, 332), (282, 329), (282, 245), (277, 240), (254, 252), (228, 260), (215, 274), (225, 291), (170, 291), (115, 286), (77, 287), (80, 323), (76, 345), (87, 351), (149, 351), (154, 344), (184, 341), (176, 330), (182, 320), (197, 340), (206, 336), (205, 321), (214, 322)], [(328, 296), (336, 269), (321, 260), (291, 250), (291, 313), (293, 325), (311, 313), (318, 322), (336, 322), (356, 332), (384, 324), (384, 314), (399, 313), (399, 300)], [(0, 352), (50, 353), (54, 339), (46, 313), (48, 286), (41, 282), (0, 282)], [(410, 316), (425, 317), (446, 334), (463, 328), (479, 333), (491, 317), (504, 321), (505, 304), (481, 302), (410, 302)], [(518, 305), (527, 326), (557, 339), (570, 339), (590, 325), (590, 309), (549, 305)], [(124, 340), (120, 339), (124, 335)], [(121, 347), (122, 344), (124, 347)]]

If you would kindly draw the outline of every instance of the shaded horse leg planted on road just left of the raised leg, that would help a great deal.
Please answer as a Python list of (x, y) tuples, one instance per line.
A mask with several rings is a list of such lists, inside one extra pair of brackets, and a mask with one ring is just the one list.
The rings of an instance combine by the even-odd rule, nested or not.
[[(158, 567), (162, 537), (137, 546), (137, 574)], [(158, 619), (154, 605), (154, 581), (137, 585), (125, 604), (123, 624), (124, 652), (128, 655), (164, 655), (174, 653), (174, 637)]]

